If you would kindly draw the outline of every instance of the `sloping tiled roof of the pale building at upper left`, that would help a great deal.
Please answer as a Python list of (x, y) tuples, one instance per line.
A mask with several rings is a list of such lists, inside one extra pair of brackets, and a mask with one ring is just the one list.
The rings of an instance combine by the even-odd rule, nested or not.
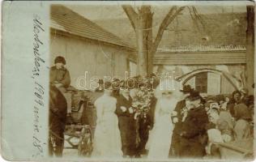
[(118, 36), (106, 31), (104, 28), (84, 18), (82, 15), (77, 14), (75, 11), (71, 11), (66, 6), (51, 6), (51, 28), (76, 36), (82, 36), (87, 39), (99, 40), (108, 44), (133, 49), (131, 45), (128, 45)]

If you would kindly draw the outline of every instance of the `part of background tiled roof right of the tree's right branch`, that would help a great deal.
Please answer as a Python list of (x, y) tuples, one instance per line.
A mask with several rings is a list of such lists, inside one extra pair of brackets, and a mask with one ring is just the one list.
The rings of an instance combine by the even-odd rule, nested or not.
[(168, 46), (225, 47), (246, 45), (246, 14), (222, 13), (201, 15), (203, 24), (197, 27), (190, 15), (179, 15), (164, 32), (160, 48)]

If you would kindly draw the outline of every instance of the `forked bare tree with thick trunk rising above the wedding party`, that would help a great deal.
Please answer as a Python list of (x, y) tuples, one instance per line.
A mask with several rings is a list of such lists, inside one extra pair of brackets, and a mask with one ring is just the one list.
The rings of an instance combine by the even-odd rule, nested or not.
[(160, 29), (157, 32), (155, 40), (152, 38), (153, 14), (151, 12), (151, 6), (141, 6), (138, 13), (130, 5), (124, 5), (122, 8), (130, 19), (130, 23), (136, 33), (138, 50), (137, 75), (149, 75), (152, 73), (154, 54), (160, 44), (165, 28), (184, 10), (185, 6), (181, 6), (178, 9), (177, 6), (173, 6), (170, 9), (160, 24)]

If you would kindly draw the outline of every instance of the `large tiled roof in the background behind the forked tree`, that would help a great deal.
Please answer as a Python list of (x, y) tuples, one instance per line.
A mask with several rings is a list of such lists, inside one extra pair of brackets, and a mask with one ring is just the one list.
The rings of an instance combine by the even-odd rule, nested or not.
[[(157, 15), (156, 15), (157, 16)], [(191, 16), (178, 15), (164, 31), (158, 50), (237, 50), (246, 45), (246, 13), (220, 13), (201, 15), (202, 25), (196, 28)], [(153, 36), (160, 26), (162, 19), (153, 18)], [(136, 43), (133, 28), (129, 19), (100, 19), (96, 21), (100, 26), (117, 33), (123, 40)], [(113, 25), (114, 24), (114, 25)]]

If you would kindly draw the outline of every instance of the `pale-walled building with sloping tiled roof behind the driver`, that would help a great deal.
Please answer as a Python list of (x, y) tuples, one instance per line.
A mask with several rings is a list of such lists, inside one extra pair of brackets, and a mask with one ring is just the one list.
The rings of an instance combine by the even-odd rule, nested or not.
[[(86, 75), (125, 77), (125, 72), (136, 71), (134, 48), (118, 36), (106, 31), (89, 19), (71, 11), (66, 6), (51, 6), (50, 61), (66, 58), (71, 85)], [(82, 83), (83, 84), (83, 83)], [(88, 86), (88, 85), (87, 85)], [(82, 86), (83, 87), (83, 86)]]

